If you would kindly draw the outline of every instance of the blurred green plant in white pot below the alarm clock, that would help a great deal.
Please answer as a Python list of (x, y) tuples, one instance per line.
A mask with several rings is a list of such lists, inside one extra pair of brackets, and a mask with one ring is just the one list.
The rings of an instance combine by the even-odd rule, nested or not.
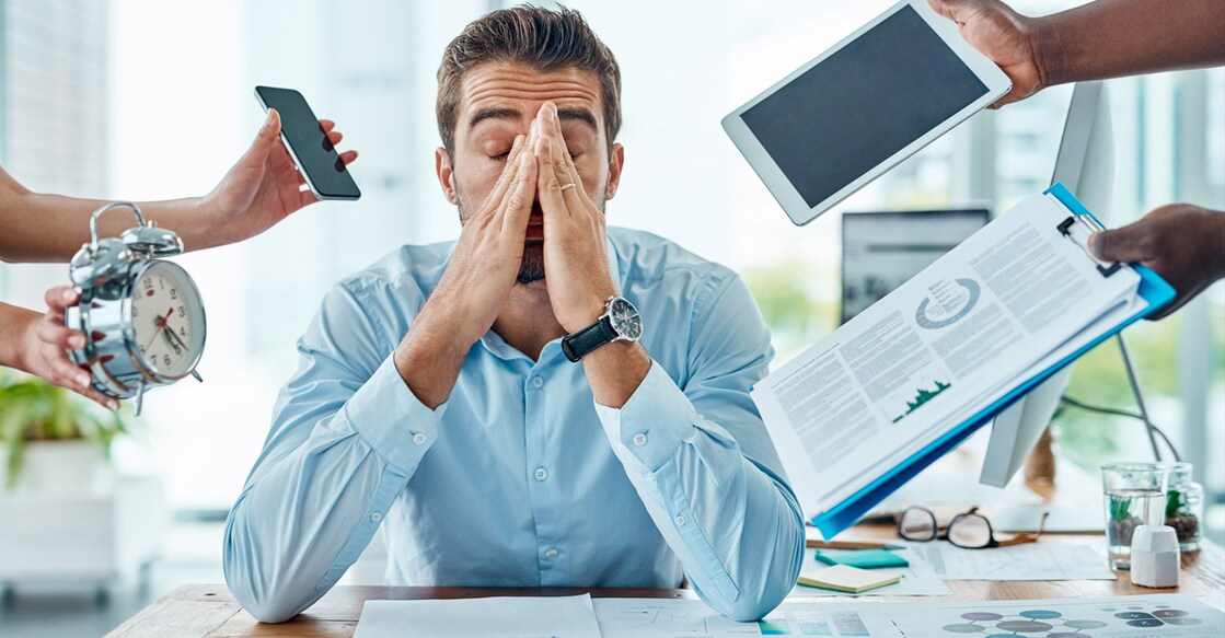
[[(124, 416), (38, 377), (0, 371), (5, 489), (82, 489), (105, 473)], [(27, 471), (22, 471), (26, 469)]]

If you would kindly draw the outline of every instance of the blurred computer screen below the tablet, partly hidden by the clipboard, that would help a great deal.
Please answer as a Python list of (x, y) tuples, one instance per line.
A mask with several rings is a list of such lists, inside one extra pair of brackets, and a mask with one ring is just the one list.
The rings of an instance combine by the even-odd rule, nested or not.
[(842, 322), (919, 274), (990, 219), (986, 208), (843, 214)]

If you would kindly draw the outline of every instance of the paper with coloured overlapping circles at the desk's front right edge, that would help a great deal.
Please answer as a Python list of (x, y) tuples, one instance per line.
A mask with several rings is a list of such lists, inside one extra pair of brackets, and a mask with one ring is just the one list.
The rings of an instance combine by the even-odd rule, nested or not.
[(907, 638), (1093, 636), (1219, 638), (1225, 614), (1183, 594), (899, 605), (889, 616)]

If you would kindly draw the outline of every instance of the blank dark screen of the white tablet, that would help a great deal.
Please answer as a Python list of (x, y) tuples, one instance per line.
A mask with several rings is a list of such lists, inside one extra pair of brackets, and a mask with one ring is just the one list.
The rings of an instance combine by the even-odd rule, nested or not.
[(904, 6), (741, 118), (811, 208), (986, 93)]

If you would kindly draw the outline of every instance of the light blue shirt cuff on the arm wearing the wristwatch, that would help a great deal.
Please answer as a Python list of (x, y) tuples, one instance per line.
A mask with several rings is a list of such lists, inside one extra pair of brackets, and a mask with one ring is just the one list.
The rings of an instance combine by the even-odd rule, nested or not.
[(693, 430), (697, 410), (655, 361), (621, 409), (595, 404), (595, 413), (617, 457), (637, 459), (655, 471)]

